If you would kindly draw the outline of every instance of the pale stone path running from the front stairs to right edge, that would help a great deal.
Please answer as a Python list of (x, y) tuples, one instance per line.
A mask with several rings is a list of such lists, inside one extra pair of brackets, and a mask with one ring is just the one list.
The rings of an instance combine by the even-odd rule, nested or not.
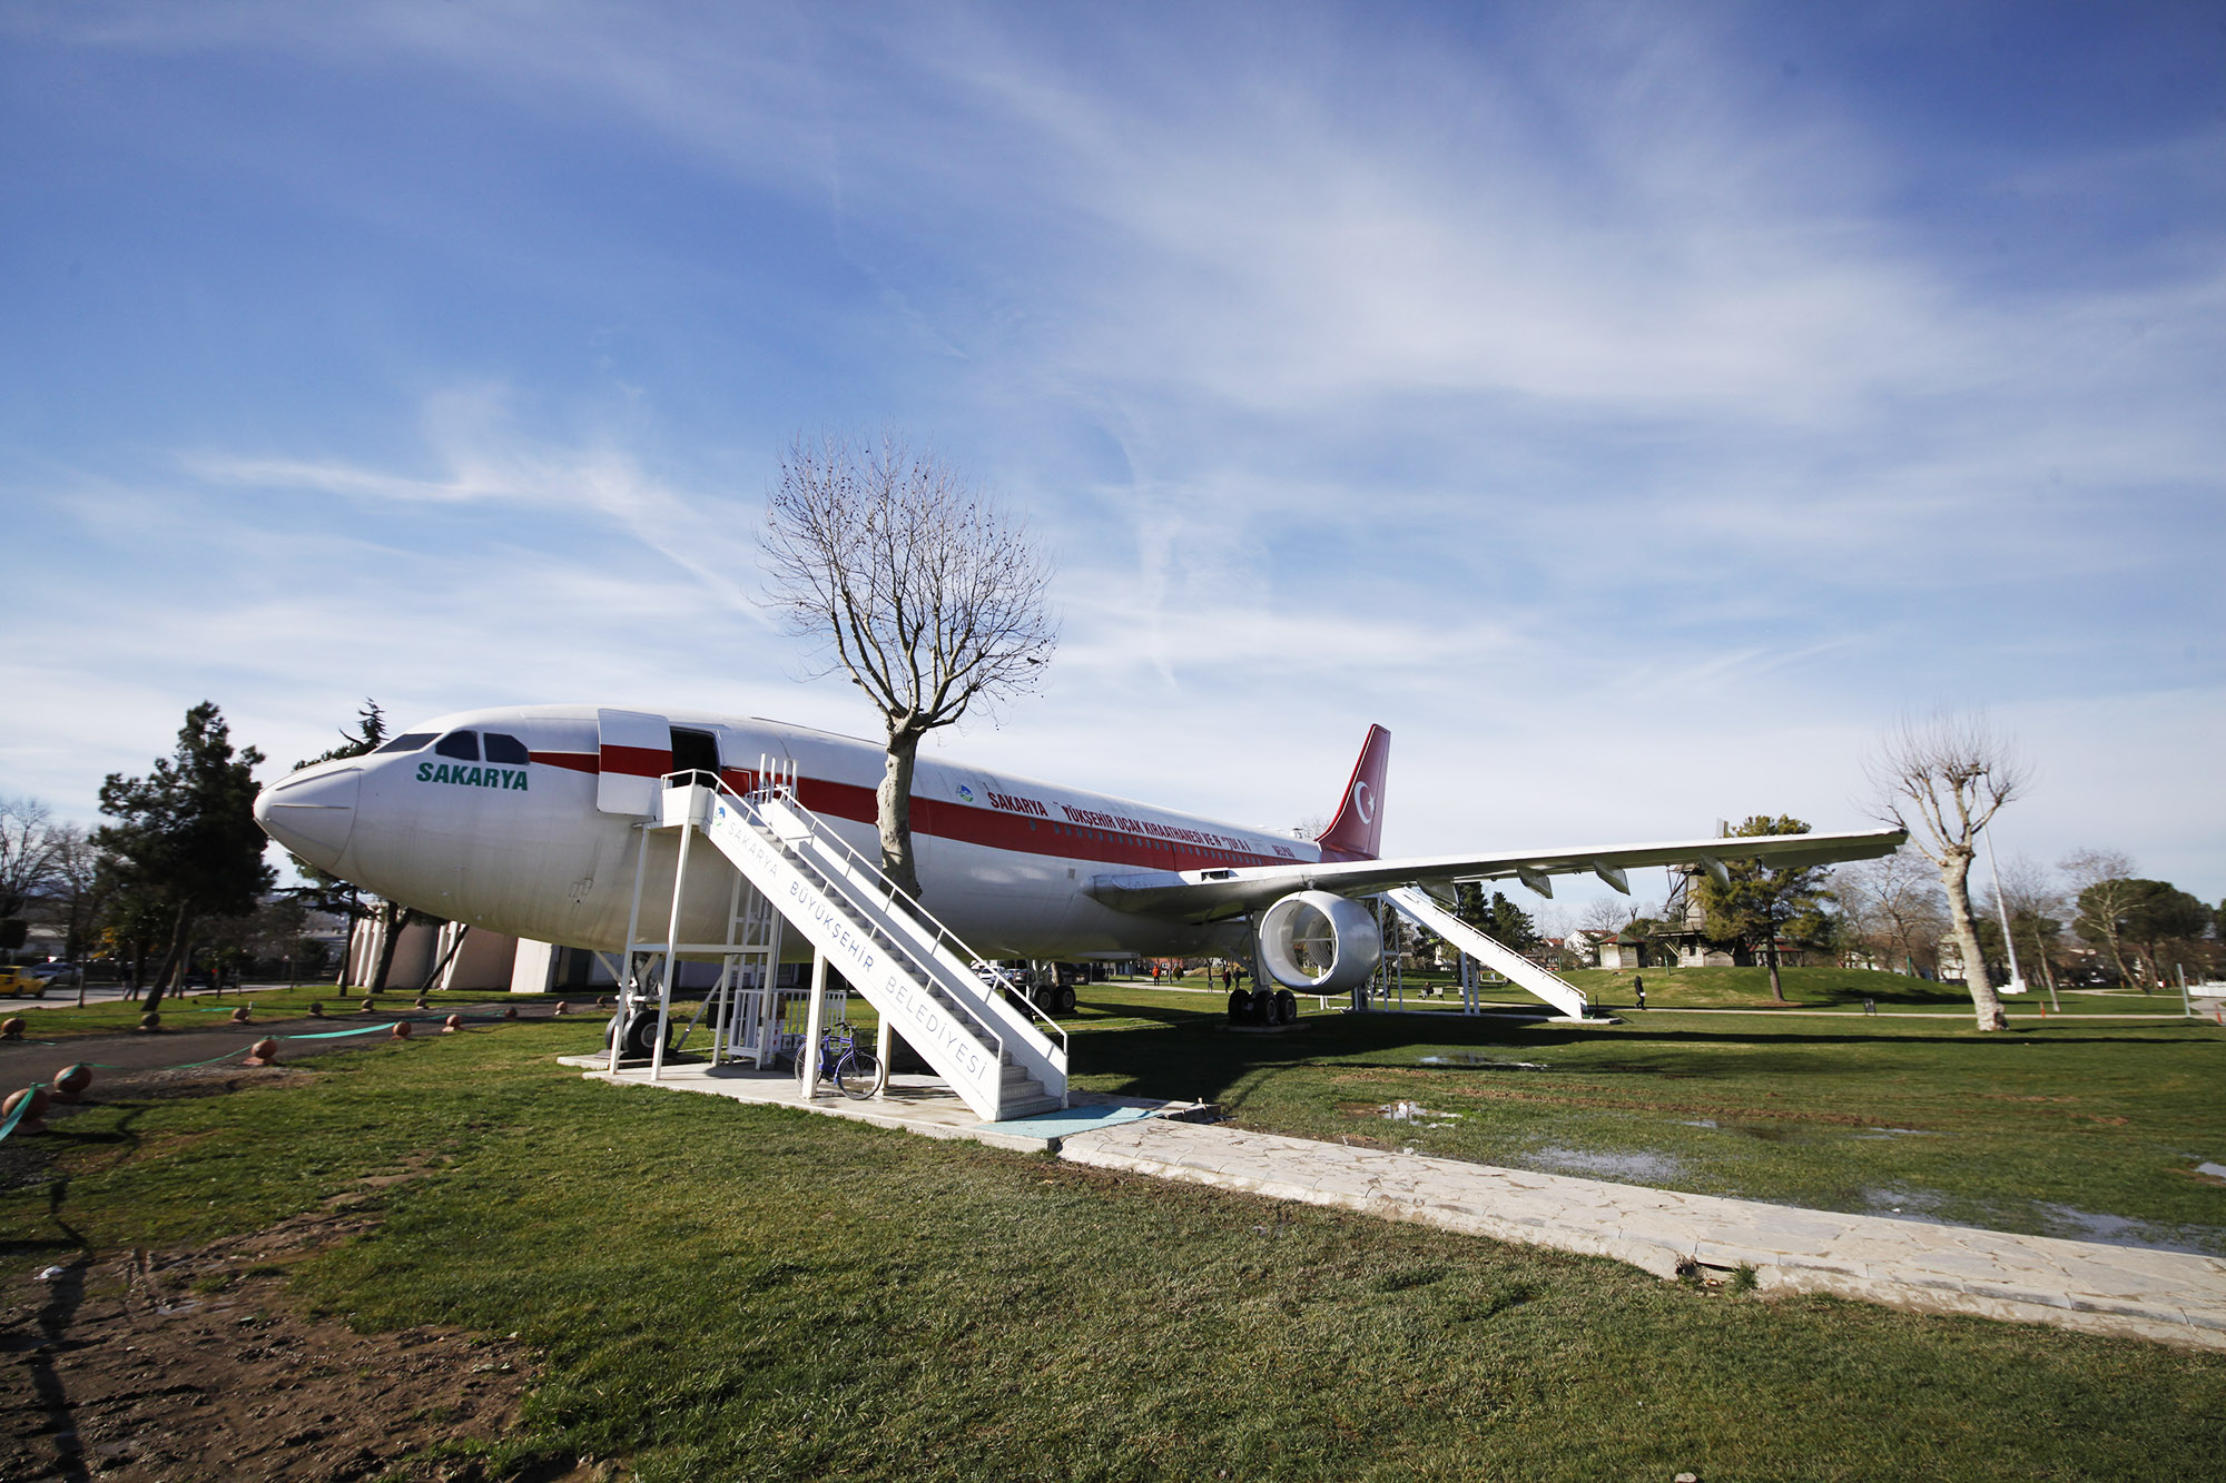
[[(568, 1055), (592, 1080), (650, 1087), (648, 1067), (612, 1076), (599, 1055)], [(986, 1124), (928, 1076), (895, 1076), (886, 1098), (828, 1091), (806, 1102), (795, 1078), (741, 1067), (672, 1064), (654, 1082), (795, 1107), (875, 1127), (966, 1138), (1077, 1165), (1242, 1189), (1275, 1200), (1414, 1220), (1469, 1236), (1612, 1256), (1663, 1278), (1692, 1269), (1754, 1269), (1761, 1292), (1814, 1292), (1925, 1314), (2048, 1323), (2086, 1334), (2226, 1352), (2226, 1260), (2090, 1240), (2012, 1236), (1977, 1227), (1843, 1216), (1756, 1200), (1498, 1169), (1420, 1153), (1180, 1122), (1182, 1102), (1075, 1093), (1075, 1104), (1137, 1107), (1117, 1127), (1042, 1131)], [(1073, 1122), (1066, 1122), (1071, 1129)]]

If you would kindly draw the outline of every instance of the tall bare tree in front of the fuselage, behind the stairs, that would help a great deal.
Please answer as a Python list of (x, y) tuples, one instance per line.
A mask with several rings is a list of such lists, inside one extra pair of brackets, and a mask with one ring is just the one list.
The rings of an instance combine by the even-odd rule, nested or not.
[(919, 739), (1035, 686), (1057, 646), (1051, 561), (1022, 521), (904, 439), (797, 439), (766, 501), (766, 597), (881, 713), (881, 871), (919, 893)]

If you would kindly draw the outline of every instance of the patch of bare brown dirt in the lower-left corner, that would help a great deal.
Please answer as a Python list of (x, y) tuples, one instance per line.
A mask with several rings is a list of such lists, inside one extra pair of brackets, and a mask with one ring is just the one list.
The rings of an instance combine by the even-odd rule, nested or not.
[[(209, 1071), (134, 1076), (129, 1096), (220, 1096), (305, 1076)], [(525, 1345), (445, 1327), (354, 1334), (287, 1303), (294, 1263), (376, 1225), (358, 1205), (341, 1196), (187, 1251), (27, 1260), (0, 1276), (0, 1361), (13, 1372), (0, 1479), (485, 1476), (470, 1443), (516, 1432), (536, 1378)], [(427, 1456), (443, 1443), (450, 1456)], [(510, 1476), (601, 1470), (565, 1461)]]

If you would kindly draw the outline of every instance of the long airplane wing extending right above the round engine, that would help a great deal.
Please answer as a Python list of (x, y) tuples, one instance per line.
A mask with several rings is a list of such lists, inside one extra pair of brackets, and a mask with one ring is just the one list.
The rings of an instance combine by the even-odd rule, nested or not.
[(1903, 828), (1856, 835), (1752, 835), (1739, 839), (1687, 839), (1681, 844), (1609, 844), (1603, 848), (1531, 851), (1507, 855), (1422, 855), (1409, 860), (1347, 860), (1287, 866), (1238, 866), (1209, 871), (1144, 871), (1097, 875), (1086, 891), (1142, 917), (1173, 922), (1218, 922), (1260, 911), (1293, 891), (1373, 895), (1393, 886), (1451, 886), (1462, 880), (1520, 880), (1540, 895), (1554, 895), (1556, 875), (1598, 875), (1629, 895), (1623, 873), (1641, 866), (1696, 864), (1723, 875), (1727, 860), (1763, 860), (1776, 868), (1874, 860), (1908, 842)]

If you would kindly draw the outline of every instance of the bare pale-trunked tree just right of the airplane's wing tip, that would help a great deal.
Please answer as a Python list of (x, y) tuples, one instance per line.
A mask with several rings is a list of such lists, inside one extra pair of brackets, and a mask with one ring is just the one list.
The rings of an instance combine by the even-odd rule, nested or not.
[(1979, 831), (2026, 790), (2026, 764), (1986, 717), (1941, 710), (1928, 721), (1897, 724), (1865, 762), (1865, 773), (1877, 817), (1908, 828), (1910, 842), (1941, 873), (1948, 924), (1979, 1029), (2008, 1029), (2010, 1018), (2001, 1013), (2001, 998), (1986, 973), (1970, 911), (1970, 862)]

